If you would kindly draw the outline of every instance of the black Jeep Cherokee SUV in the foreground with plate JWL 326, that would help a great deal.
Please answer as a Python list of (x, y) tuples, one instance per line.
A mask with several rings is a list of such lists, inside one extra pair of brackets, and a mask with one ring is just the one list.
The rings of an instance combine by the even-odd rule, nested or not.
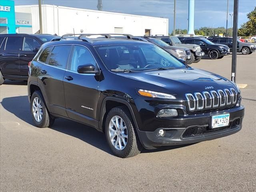
[(92, 126), (122, 158), (241, 130), (244, 107), (233, 82), (129, 35), (92, 37), (48, 42), (33, 59), (28, 99), (36, 126), (60, 117)]

